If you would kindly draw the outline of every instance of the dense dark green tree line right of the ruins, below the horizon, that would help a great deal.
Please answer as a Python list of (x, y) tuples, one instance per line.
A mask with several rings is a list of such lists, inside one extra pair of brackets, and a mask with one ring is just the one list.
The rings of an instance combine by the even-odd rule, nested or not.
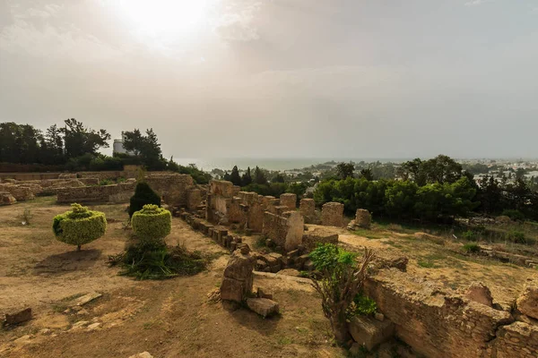
[(538, 219), (538, 192), (522, 178), (514, 183), (486, 176), (475, 183), (473, 175), (455, 160), (438, 156), (405, 162), (398, 169), (400, 180), (373, 181), (369, 172), (354, 177), (349, 163), (337, 166), (338, 178), (317, 185), (318, 204), (342, 202), (348, 213), (369, 209), (378, 217), (447, 221), (471, 212)]

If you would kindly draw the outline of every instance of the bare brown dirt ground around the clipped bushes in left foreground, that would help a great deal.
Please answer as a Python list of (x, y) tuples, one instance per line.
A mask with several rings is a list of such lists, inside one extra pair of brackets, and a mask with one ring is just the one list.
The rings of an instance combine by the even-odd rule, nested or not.
[[(30, 226), (21, 224), (24, 209), (33, 216)], [(34, 315), (0, 330), (0, 356), (128, 357), (144, 351), (154, 357), (345, 356), (332, 345), (310, 286), (256, 277), (255, 286), (273, 293), (281, 315), (264, 320), (244, 309), (226, 311), (207, 294), (220, 286), (228, 253), (183, 221), (173, 219), (167, 243), (213, 253), (211, 267), (193, 277), (134, 281), (106, 263), (126, 244), (125, 205), (93, 207), (115, 222), (80, 252), (52, 234), (52, 217), (66, 209), (54, 198), (0, 208), (0, 313), (31, 307)], [(92, 291), (103, 296), (65, 313), (76, 297)]]

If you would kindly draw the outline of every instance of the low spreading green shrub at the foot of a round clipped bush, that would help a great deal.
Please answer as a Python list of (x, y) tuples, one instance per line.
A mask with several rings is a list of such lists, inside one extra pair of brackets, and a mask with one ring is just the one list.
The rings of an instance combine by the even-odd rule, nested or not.
[(184, 246), (169, 250), (165, 243), (156, 241), (131, 245), (125, 252), (110, 256), (108, 262), (124, 268), (120, 275), (143, 280), (195, 275), (206, 268), (208, 260)]

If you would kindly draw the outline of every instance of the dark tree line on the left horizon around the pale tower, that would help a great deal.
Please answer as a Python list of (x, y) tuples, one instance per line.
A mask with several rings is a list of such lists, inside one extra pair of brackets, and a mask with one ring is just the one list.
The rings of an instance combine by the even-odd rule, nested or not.
[(111, 136), (107, 130), (93, 130), (74, 118), (66, 119), (62, 126), (52, 124), (44, 132), (30, 124), (0, 123), (0, 163), (69, 171), (122, 170), (124, 165), (142, 165), (148, 170), (192, 175), (196, 183), (208, 183), (211, 179), (195, 165), (179, 166), (173, 158), (164, 158), (152, 128), (125, 134), (124, 148), (128, 153), (110, 157), (100, 153), (100, 149), (109, 147)]

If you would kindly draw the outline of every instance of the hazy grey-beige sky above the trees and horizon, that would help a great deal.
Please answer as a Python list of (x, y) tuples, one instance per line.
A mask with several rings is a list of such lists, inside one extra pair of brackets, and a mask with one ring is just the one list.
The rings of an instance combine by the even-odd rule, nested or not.
[(538, 0), (0, 0), (0, 122), (165, 156), (538, 157)]

